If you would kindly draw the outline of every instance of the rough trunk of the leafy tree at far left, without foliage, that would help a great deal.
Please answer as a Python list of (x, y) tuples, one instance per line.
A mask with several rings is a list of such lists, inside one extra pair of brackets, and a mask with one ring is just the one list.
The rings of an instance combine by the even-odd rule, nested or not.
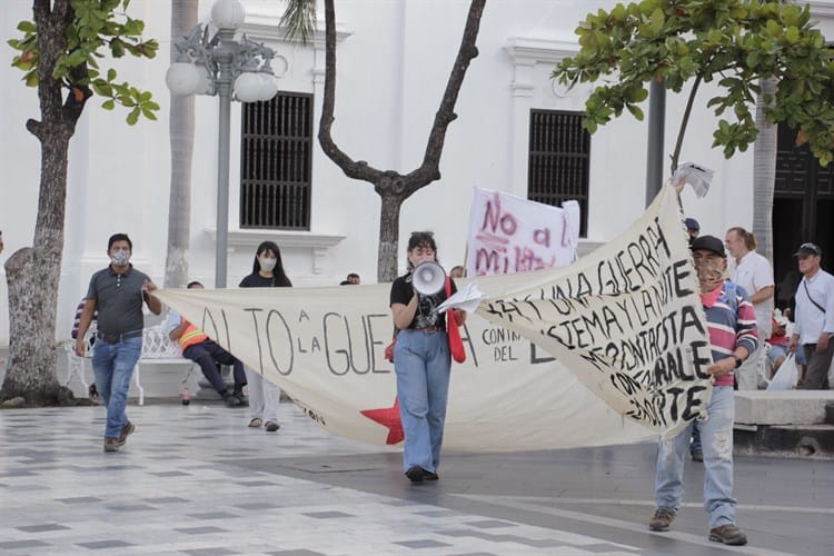
[(68, 91), (62, 103), (61, 83), (52, 79), (56, 61), (67, 48), (67, 28), (73, 18), (70, 0), (34, 0), (33, 13), (40, 57), (41, 121), (29, 120), (26, 126), (41, 143), (40, 190), (32, 247), (20, 249), (6, 261), (10, 358), (0, 400), (22, 396), (27, 405), (40, 406), (72, 397), (56, 377), (56, 306), (63, 254), (69, 141), (90, 91)]

